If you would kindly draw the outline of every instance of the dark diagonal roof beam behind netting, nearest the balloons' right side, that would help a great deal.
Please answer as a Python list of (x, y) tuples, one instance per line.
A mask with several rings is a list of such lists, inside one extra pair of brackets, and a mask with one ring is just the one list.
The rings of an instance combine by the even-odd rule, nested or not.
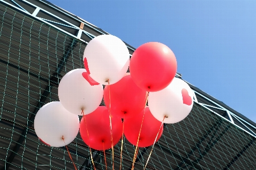
[(199, 148), (199, 147), (200, 147), (201, 143), (208, 137), (208, 135), (209, 135), (210, 133), (212, 133), (212, 131), (213, 131), (214, 129), (217, 130), (217, 129), (220, 127), (222, 121), (223, 121), (223, 119), (221, 118), (221, 119), (219, 119), (218, 122), (216, 122), (214, 125), (212, 125), (212, 127), (207, 131), (207, 133), (204, 134), (203, 138), (201, 138), (201, 139), (199, 140), (199, 142), (196, 143), (196, 146), (193, 147), (192, 150), (187, 154), (187, 156), (185, 157), (185, 159), (182, 159), (183, 162), (181, 162), (181, 163), (177, 166), (177, 168), (176, 168), (175, 170), (178, 170), (178, 169), (180, 169), (180, 167), (183, 167), (183, 166), (187, 167), (187, 164), (188, 164), (189, 162), (191, 162), (191, 160), (189, 160), (189, 157), (193, 154), (193, 152), (194, 152), (196, 149), (200, 151), (200, 148)]

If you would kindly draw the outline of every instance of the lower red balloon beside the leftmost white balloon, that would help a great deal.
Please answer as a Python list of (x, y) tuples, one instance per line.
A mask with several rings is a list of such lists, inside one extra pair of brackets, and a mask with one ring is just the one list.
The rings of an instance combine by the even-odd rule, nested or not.
[[(111, 121), (113, 145), (117, 145), (122, 136), (122, 120), (121, 118), (112, 116)], [(85, 122), (88, 129), (89, 139)], [(82, 140), (86, 143), (86, 145), (90, 146), (95, 150), (108, 150), (109, 148), (111, 148), (110, 120), (108, 108), (100, 106), (92, 113), (86, 114), (80, 121), (80, 134)]]

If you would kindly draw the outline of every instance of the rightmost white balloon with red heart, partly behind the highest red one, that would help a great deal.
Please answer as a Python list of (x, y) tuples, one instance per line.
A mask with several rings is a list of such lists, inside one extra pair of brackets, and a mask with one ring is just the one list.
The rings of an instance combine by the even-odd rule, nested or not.
[(171, 84), (148, 95), (148, 107), (153, 116), (164, 123), (174, 124), (183, 120), (193, 107), (193, 92), (186, 82), (174, 78)]

